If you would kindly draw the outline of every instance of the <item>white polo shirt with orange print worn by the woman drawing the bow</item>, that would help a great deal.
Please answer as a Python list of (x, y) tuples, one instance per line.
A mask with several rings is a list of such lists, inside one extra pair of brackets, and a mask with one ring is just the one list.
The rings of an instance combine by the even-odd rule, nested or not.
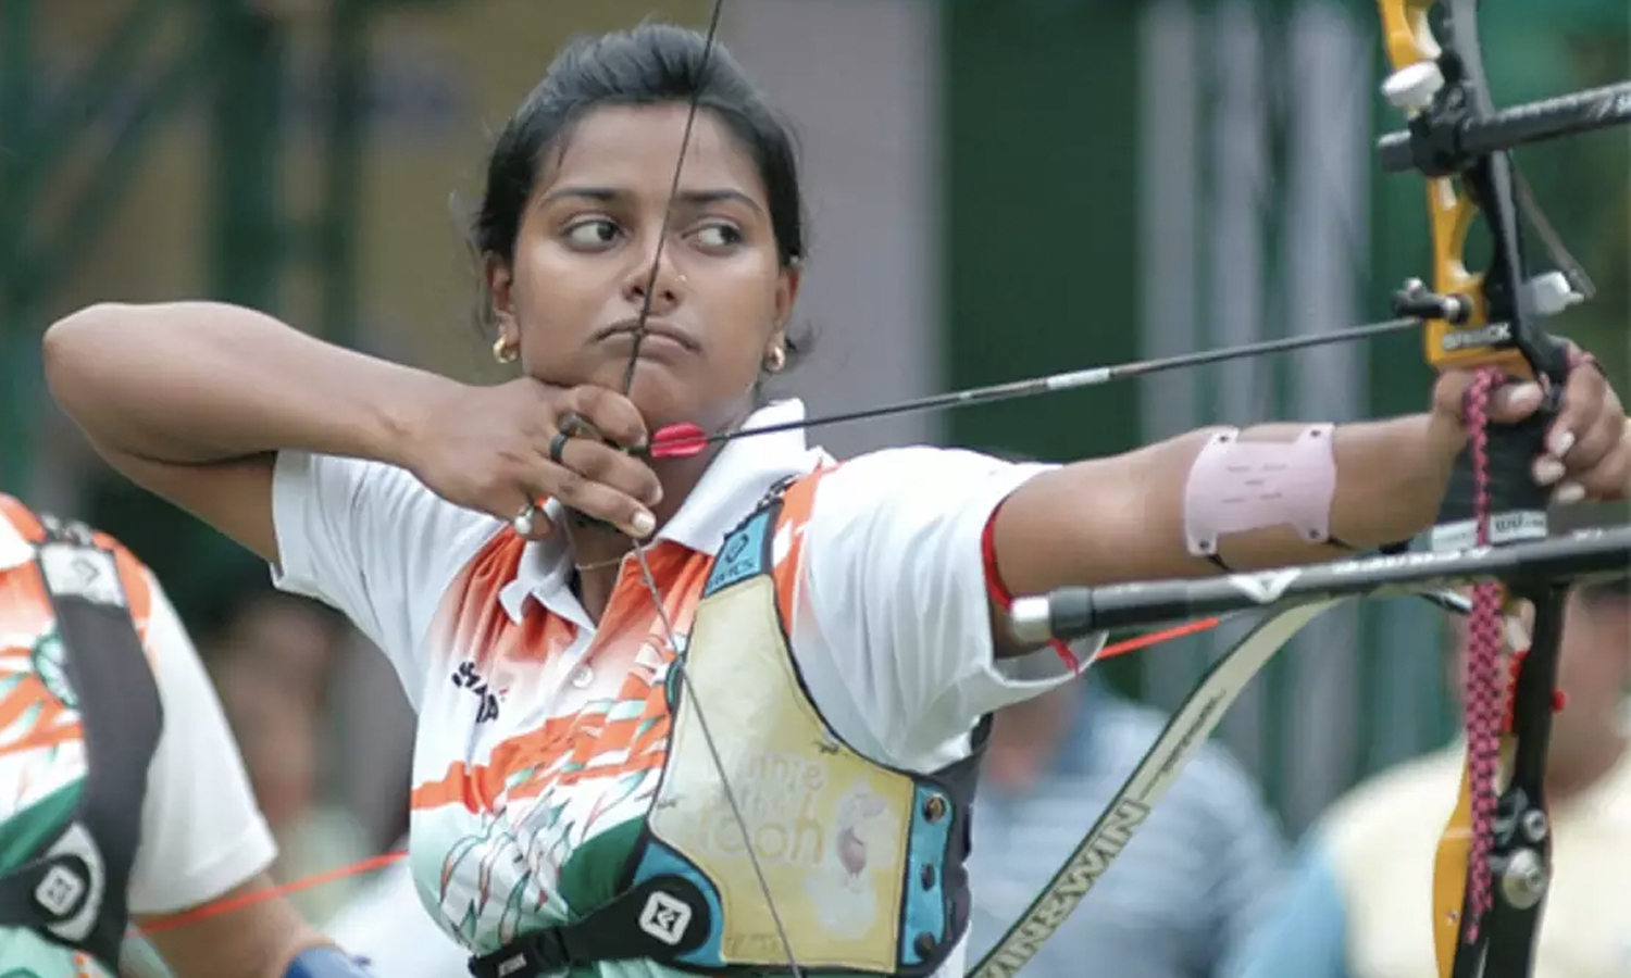
[[(747, 427), (798, 417), (802, 404), (783, 401)], [(778, 479), (830, 463), (799, 430), (721, 450), (648, 548), (682, 637), (724, 535)], [(811, 699), (855, 750), (938, 769), (967, 756), (980, 716), (1072, 676), (1049, 649), (992, 655), (982, 535), (1045, 468), (910, 447), (822, 476), (788, 628)], [(480, 954), (569, 919), (563, 862), (646, 813), (665, 758), (652, 734), (667, 729), (652, 647), (665, 641), (638, 566), (625, 562), (597, 624), (572, 595), (564, 540), (524, 544), (406, 471), (285, 452), (274, 486), (274, 580), (344, 611), (419, 711), (411, 864), (424, 905)], [(946, 973), (961, 970), (959, 950)]]

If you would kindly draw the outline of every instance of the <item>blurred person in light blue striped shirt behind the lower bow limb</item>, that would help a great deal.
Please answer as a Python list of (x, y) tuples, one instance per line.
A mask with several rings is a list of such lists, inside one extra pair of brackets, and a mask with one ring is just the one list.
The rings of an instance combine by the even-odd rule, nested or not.
[[(972, 820), (972, 954), (1029, 906), (1165, 725), (1091, 675), (997, 714)], [(1258, 786), (1209, 743), (1023, 973), (1212, 978), (1271, 896), (1284, 854)]]

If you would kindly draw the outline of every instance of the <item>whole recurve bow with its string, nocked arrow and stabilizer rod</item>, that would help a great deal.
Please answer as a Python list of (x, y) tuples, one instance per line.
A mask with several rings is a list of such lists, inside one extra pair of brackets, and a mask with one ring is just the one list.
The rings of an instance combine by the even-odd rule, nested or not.
[[(1277, 611), (1213, 665), (1076, 852), (970, 975), (979, 978), (1013, 975), (1029, 960), (1120, 852), (1150, 807), (1217, 725), (1240, 689), (1303, 624), (1344, 600), (1385, 593), (1425, 595), (1452, 610), (1471, 611), (1470, 673), (1474, 683), (1470, 683), (1468, 704), (1473, 737), (1461, 781), (1461, 800), (1445, 830), (1435, 864), (1434, 932), (1442, 978), (1518, 976), (1530, 971), (1530, 949), (1540, 921), (1549, 862), (1541, 782), (1562, 598), (1567, 585), (1582, 574), (1608, 572), (1616, 564), (1623, 566), (1631, 548), (1624, 535), (1567, 541), (1561, 551), (1553, 546), (1556, 541), (1523, 543), (1546, 533), (1546, 497), (1540, 491), (1525, 492), (1525, 487), (1533, 489), (1528, 481), (1528, 460), (1541, 450), (1545, 422), (1554, 416), (1556, 394), (1571, 367), (1566, 347), (1540, 333), (1536, 319), (1561, 311), (1577, 302), (1580, 292), (1590, 289), (1584, 274), (1549, 233), (1546, 238), (1553, 254), (1559, 264), (1569, 267), (1571, 274), (1527, 279), (1518, 214), (1520, 207), (1528, 205), (1522, 204), (1527, 196), (1517, 189), (1520, 184), (1505, 150), (1523, 142), (1631, 121), (1631, 85), (1497, 112), (1491, 103), (1478, 49), (1476, 0), (1442, 2), (1452, 28), (1442, 47), (1427, 23), (1427, 11), (1437, 2), (1378, 0), (1385, 46), (1395, 68), (1385, 91), (1411, 117), (1409, 130), (1385, 137), (1378, 150), (1386, 168), (1419, 170), (1427, 176), (1434, 285), (1429, 289), (1421, 282), (1408, 284), (1395, 303), (1399, 319), (1328, 334), (1311, 342), (1357, 339), (1401, 326), (1424, 324), (1430, 365), (1486, 368), (1468, 403), (1470, 447), (1456, 463), (1456, 476), (1434, 535), (1435, 544), (1447, 549), (1442, 554), (1388, 556), (1311, 569), (1230, 575), (1220, 582), (1065, 588), (1045, 598), (1031, 598), (1026, 606), (1016, 603), (1016, 631), (1032, 641), (1072, 637), (1109, 624), (1148, 624), (1202, 613), (1262, 608)], [(721, 10), (723, 0), (714, 0), (701, 59), (703, 73), (716, 47)], [(700, 108), (701, 83), (696, 82), (687, 108), (669, 204), (623, 377), (625, 394), (633, 386), (638, 368), (669, 217), (678, 196), (692, 126)], [(1471, 274), (1465, 269), (1461, 254), (1471, 220), (1479, 210), (1492, 236), (1494, 259), (1483, 274)], [(1530, 210), (1532, 220), (1545, 227), (1538, 212), (1532, 207)], [(1168, 362), (1076, 370), (775, 429), (706, 434), (695, 425), (674, 425), (656, 432), (646, 453), (651, 458), (695, 455), (708, 445), (765, 430), (814, 427), (832, 421), (1070, 390), (1293, 346), (1305, 344), (1280, 341), (1259, 344), (1258, 349), (1212, 350)], [(1483, 412), (1491, 390), (1504, 375), (1548, 380), (1551, 403), (1525, 425), (1496, 432), (1487, 429)], [(1505, 468), (1491, 473), (1491, 463)], [(1491, 536), (1491, 526), (1507, 525), (1517, 525), (1518, 531), (1505, 538)], [(1512, 541), (1518, 541), (1517, 546), (1491, 559), (1491, 546)], [(1541, 549), (1535, 551), (1536, 546)], [(678, 652), (682, 644), (677, 641), (662, 592), (646, 559), (646, 544), (636, 540), (631, 554), (651, 593), (664, 637), (675, 650), (670, 668), (682, 685), (688, 707), (698, 717), (706, 753), (713, 760), (723, 795), (775, 923), (788, 968), (794, 976), (802, 975), (793, 939), (776, 911), (775, 895), (750, 843), (752, 833), (742, 817), (734, 786), (727, 781), (724, 763), (708, 729), (703, 704), (696, 701), (693, 685), (685, 681), (685, 655)], [(1470, 608), (1440, 590), (1445, 585), (1468, 582), (1481, 582), (1474, 588)], [(1168, 590), (1163, 592), (1161, 587)], [(1120, 605), (1112, 600), (1117, 593), (1122, 598)], [(1512, 769), (1507, 787), (1497, 800), (1494, 782), (1501, 760), (1497, 755), (1502, 753), (1496, 748), (1502, 699), (1502, 673), (1497, 663), (1502, 641), (1501, 618), (1518, 600), (1532, 601), (1536, 616), (1533, 644), (1517, 660), (1512, 720), (1504, 738), (1504, 753), (1510, 758)], [(1067, 608), (1072, 601), (1078, 611), (1086, 608), (1098, 613), (1116, 606), (1120, 616), (1076, 615), (1072, 619)], [(1499, 879), (1501, 885), (1494, 887), (1492, 879)]]

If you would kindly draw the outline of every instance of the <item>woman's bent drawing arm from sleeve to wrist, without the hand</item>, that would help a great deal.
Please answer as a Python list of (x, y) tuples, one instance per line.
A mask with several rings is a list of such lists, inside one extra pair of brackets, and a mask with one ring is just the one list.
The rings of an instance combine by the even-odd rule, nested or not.
[(80, 310), (44, 363), (109, 465), (272, 564), (277, 452), (404, 465), (416, 412), (460, 386), (204, 302)]

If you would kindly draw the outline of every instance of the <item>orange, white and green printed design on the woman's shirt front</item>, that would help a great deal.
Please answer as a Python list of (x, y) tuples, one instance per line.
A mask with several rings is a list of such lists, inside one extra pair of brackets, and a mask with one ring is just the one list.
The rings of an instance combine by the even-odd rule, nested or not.
[[(783, 509), (783, 538), (802, 528), (809, 499), (809, 492), (794, 494), (802, 509)], [(546, 675), (528, 663), (541, 667), (572, 637), (555, 616), (514, 624), (499, 606), (491, 585), (514, 577), (522, 549), (524, 541), (511, 533), (493, 538), (435, 618), (450, 659), (473, 662), (476, 673), (497, 676), (488, 683), (502, 683), (512, 694)], [(785, 611), (791, 611), (796, 580), (791, 553), (775, 575)], [(648, 559), (667, 585), (667, 611), (683, 649), (713, 559), (674, 544), (652, 548)], [(587, 910), (610, 896), (607, 887), (634, 854), (669, 758), (674, 657), (651, 595), (631, 569), (586, 652), (592, 678), (582, 694), (563, 698), (553, 712), (517, 717), (525, 729), (493, 747), (486, 763), (457, 761), (442, 778), (414, 787), (413, 862), (444, 927), (488, 952), (519, 932), (564, 923), (568, 908)], [(480, 831), (471, 831), (470, 815)], [(426, 852), (437, 859), (434, 866)], [(509, 874), (494, 874), (494, 866), (525, 869), (506, 885)]]

